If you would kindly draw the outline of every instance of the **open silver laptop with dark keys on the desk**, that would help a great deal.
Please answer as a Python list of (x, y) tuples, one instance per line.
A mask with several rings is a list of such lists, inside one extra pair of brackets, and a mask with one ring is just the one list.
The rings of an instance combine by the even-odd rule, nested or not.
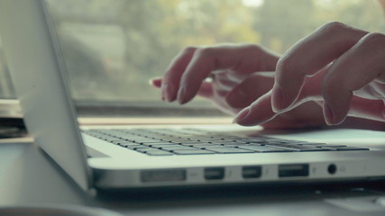
[(235, 125), (80, 130), (47, 6), (0, 1), (0, 33), (27, 129), (84, 190), (385, 177), (380, 148), (254, 136)]

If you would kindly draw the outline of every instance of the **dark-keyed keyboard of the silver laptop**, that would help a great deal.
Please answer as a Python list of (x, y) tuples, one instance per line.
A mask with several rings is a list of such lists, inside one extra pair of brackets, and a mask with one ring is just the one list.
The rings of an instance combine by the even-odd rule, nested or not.
[(369, 150), (369, 148), (266, 136), (245, 138), (196, 129), (83, 130), (83, 132), (149, 156)]

